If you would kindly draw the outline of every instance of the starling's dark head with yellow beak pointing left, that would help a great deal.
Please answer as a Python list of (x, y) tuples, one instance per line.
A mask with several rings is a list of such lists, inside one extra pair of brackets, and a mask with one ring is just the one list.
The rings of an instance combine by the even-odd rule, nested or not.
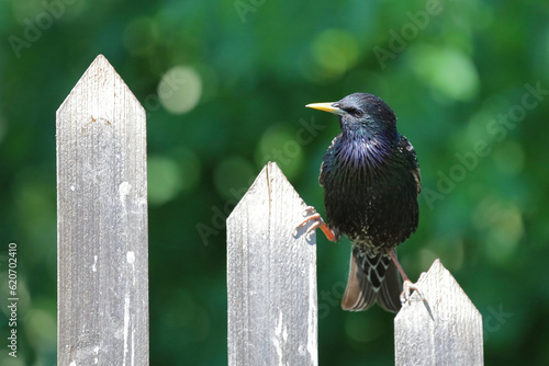
[(306, 105), (339, 116), (341, 130), (366, 136), (396, 134), (396, 116), (381, 99), (368, 93), (352, 93), (334, 103)]

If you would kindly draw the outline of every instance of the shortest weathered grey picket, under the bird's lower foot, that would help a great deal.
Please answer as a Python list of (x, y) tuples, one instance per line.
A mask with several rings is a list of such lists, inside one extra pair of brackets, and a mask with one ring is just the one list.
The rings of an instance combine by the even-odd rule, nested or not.
[(439, 260), (394, 319), (395, 365), (483, 365), (482, 317)]

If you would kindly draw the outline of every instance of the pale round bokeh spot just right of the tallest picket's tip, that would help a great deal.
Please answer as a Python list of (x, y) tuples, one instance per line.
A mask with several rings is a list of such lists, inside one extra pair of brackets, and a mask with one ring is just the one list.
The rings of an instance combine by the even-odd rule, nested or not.
[(197, 106), (202, 94), (202, 79), (191, 67), (176, 66), (158, 83), (158, 99), (173, 114), (188, 113)]

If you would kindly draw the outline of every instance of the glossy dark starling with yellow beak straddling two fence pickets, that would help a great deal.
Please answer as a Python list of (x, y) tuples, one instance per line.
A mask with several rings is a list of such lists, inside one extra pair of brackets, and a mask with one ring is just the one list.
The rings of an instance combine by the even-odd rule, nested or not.
[(327, 224), (313, 207), (300, 225), (313, 221), (328, 240), (346, 235), (352, 243), (344, 310), (359, 311), (376, 301), (401, 308), (415, 288), (396, 260), (395, 248), (417, 228), (421, 174), (414, 147), (396, 130), (394, 112), (378, 96), (354, 93), (335, 103), (307, 107), (336, 114), (341, 134), (332, 141), (321, 167)]

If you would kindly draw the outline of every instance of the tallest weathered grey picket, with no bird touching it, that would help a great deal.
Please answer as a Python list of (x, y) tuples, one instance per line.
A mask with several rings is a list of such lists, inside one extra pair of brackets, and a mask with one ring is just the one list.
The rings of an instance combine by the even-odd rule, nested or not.
[(58, 365), (148, 365), (145, 138), (98, 56), (57, 111)]

